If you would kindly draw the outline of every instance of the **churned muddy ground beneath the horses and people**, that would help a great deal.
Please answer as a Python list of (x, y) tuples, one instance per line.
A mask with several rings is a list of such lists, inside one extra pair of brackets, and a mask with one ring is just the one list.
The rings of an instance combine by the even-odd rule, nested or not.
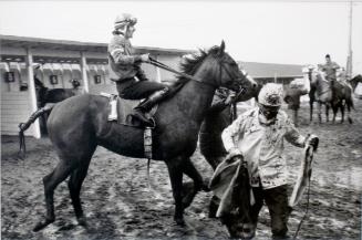
[[(301, 108), (301, 133), (317, 134), (321, 143), (314, 156), (310, 209), (299, 239), (361, 239), (362, 101), (355, 105), (353, 125), (309, 124), (309, 108)], [(166, 166), (152, 163), (149, 191), (145, 159), (122, 157), (102, 147), (93, 157), (82, 188), (87, 228), (77, 226), (66, 182), (62, 182), (55, 190), (55, 222), (32, 232), (44, 215), (42, 178), (58, 160), (49, 138), (28, 137), (27, 144), (28, 157), (20, 160), (18, 138), (1, 139), (2, 239), (228, 239), (225, 227), (207, 217), (210, 192), (196, 197), (185, 212), (187, 226), (177, 227), (173, 222), (174, 201)], [(302, 149), (286, 144), (286, 153), (290, 179), (296, 180)], [(198, 150), (193, 161), (204, 177), (211, 176), (211, 168)], [(306, 202), (304, 196), (291, 215), (291, 234)], [(270, 236), (269, 215), (263, 208), (257, 239)]]

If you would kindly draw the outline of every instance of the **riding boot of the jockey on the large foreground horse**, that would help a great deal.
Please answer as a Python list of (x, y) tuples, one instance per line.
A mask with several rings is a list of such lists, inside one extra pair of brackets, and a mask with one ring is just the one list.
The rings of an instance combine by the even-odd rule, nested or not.
[(134, 112), (131, 114), (131, 116), (139, 119), (146, 126), (154, 126), (154, 122), (146, 117), (145, 114), (149, 112), (154, 105), (168, 96), (168, 92), (169, 88), (166, 86), (165, 88), (151, 94), (147, 100), (143, 101), (138, 106), (134, 108)]

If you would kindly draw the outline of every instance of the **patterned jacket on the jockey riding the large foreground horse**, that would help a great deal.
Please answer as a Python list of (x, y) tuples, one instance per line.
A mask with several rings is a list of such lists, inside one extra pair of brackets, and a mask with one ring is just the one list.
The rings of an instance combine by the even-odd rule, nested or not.
[(108, 44), (108, 69), (112, 81), (134, 77), (141, 71), (141, 56), (134, 54), (130, 40), (114, 34)]

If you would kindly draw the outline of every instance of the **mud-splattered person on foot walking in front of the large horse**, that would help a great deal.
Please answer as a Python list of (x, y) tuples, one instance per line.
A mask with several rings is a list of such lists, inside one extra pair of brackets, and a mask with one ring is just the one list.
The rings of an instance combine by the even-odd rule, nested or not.
[(280, 109), (282, 86), (267, 83), (258, 96), (258, 106), (239, 115), (223, 132), (225, 149), (230, 156), (244, 156), (248, 164), (255, 205), (249, 215), (255, 233), (259, 211), (266, 202), (271, 216), (273, 238), (287, 237), (287, 222), (291, 212), (287, 196), (287, 163), (283, 139), (297, 147), (317, 145), (313, 137), (299, 134), (288, 115)]

